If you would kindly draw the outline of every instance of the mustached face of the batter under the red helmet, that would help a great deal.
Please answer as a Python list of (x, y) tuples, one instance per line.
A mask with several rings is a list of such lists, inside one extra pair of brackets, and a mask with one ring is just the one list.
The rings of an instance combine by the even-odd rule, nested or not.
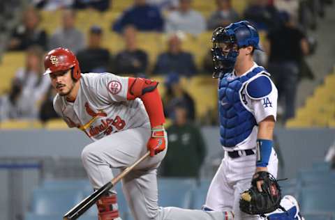
[(71, 70), (52, 72), (50, 79), (52, 86), (61, 96), (69, 95), (75, 86), (75, 81), (71, 77)]

